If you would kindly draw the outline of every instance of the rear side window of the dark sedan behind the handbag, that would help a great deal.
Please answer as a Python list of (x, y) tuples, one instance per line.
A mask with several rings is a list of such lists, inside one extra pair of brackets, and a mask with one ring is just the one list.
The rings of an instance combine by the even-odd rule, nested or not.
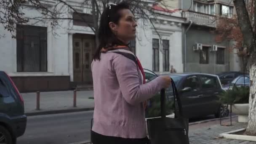
[(218, 79), (213, 76), (200, 75), (200, 80), (202, 82), (202, 88), (217, 88)]

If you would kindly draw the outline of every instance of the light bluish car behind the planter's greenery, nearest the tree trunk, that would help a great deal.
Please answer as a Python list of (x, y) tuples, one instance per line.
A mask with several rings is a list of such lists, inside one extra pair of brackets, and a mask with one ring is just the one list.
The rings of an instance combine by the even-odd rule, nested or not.
[(247, 86), (250, 87), (250, 76), (249, 75), (239, 75), (230, 84), (224, 85), (224, 90), (232, 89), (234, 86)]

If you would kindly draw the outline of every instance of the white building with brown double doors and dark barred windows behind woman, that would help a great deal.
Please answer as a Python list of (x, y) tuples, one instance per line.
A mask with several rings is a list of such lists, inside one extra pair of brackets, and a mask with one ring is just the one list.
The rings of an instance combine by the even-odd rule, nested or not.
[[(67, 3), (90, 21), (90, 6), (81, 7), (77, 0), (67, 0)], [(0, 38), (0, 70), (12, 77), (21, 92), (92, 85), (94, 32), (70, 8), (61, 5), (59, 8), (66, 10), (62, 16), (75, 20), (61, 20), (56, 29), (52, 29), (49, 21), (31, 20), (26, 26), (17, 25), (16, 39), (0, 26), (0, 33), (4, 35)], [(155, 8), (160, 13), (157, 19), (152, 18), (155, 28), (138, 20), (138, 35), (131, 47), (144, 68), (163, 73), (173, 65), (178, 72), (183, 72), (181, 23), (184, 19), (180, 12)], [(41, 11), (29, 5), (24, 5), (24, 13), (28, 17), (41, 16)]]

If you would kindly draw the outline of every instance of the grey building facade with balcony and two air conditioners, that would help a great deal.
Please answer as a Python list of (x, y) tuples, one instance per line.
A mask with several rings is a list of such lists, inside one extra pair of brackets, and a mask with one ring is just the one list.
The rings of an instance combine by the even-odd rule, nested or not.
[(178, 5), (186, 19), (182, 29), (184, 72), (239, 71), (240, 59), (230, 51), (234, 42), (217, 43), (214, 33), (218, 16), (234, 15), (232, 0), (179, 0)]

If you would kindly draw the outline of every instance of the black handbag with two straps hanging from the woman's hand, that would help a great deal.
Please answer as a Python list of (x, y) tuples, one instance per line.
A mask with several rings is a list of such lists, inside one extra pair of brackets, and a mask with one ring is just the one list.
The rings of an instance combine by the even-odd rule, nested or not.
[(161, 117), (147, 119), (151, 144), (189, 144), (187, 118), (183, 117), (181, 101), (175, 83), (171, 81), (174, 100), (174, 118), (165, 116), (165, 89), (161, 94)]

